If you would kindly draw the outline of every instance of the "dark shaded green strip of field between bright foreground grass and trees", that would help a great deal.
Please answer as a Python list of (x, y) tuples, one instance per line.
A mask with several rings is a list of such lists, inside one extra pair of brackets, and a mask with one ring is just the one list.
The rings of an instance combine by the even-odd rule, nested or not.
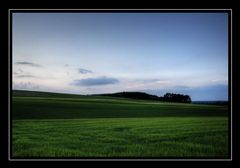
[(228, 116), (227, 106), (104, 98), (13, 97), (13, 119)]

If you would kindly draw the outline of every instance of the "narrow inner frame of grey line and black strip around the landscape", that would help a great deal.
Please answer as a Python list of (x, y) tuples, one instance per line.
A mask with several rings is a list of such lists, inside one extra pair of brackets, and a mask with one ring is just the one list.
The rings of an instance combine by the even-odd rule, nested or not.
[[(231, 161), (232, 160), (232, 11), (231, 9), (190, 9), (190, 10), (176, 10), (176, 9), (90, 9), (90, 10), (84, 10), (84, 9), (35, 9), (35, 10), (29, 10), (29, 9), (11, 9), (9, 10), (9, 67), (10, 67), (10, 95), (12, 93), (12, 14), (13, 13), (228, 13), (228, 96), (229, 96), (229, 116), (228, 116), (228, 138), (229, 138), (229, 157), (227, 158), (216, 158), (216, 157), (30, 157), (30, 158), (21, 158), (21, 157), (12, 157), (12, 112), (10, 110), (10, 155), (9, 160), (13, 161), (19, 161), (19, 160), (37, 160), (37, 161), (58, 161), (58, 160), (64, 160), (64, 161), (72, 161), (72, 160), (166, 160), (166, 161)], [(230, 64), (229, 64), (230, 63)], [(12, 105), (12, 96), (10, 96), (10, 106)], [(10, 108), (11, 109), (11, 108)], [(230, 113), (231, 112), (231, 113)], [(231, 142), (231, 143), (230, 143)]]

